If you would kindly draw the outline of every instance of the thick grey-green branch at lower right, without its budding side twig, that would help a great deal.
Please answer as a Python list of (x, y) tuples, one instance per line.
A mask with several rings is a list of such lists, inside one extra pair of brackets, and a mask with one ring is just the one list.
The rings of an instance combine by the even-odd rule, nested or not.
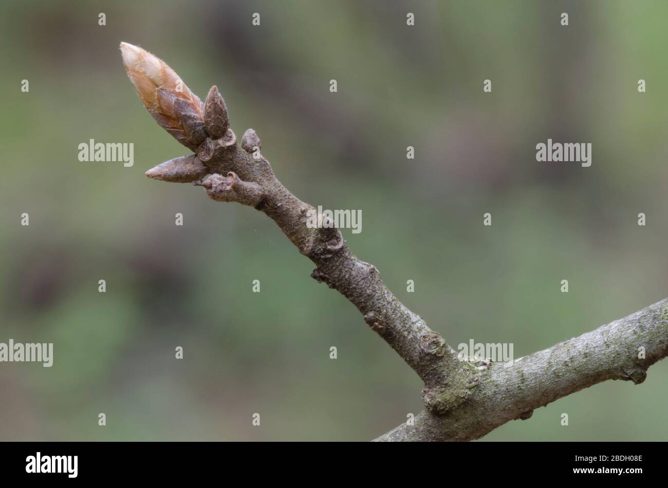
[[(639, 359), (639, 348), (644, 359)], [(470, 441), (570, 393), (607, 379), (642, 383), (668, 355), (668, 299), (595, 331), (522, 357), (492, 363), (476, 394), (449, 415), (423, 412), (376, 441)], [(641, 355), (642, 356), (642, 355)]]

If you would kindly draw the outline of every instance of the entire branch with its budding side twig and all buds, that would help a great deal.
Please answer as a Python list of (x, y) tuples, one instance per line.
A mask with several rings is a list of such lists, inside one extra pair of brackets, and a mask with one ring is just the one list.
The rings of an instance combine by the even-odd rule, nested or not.
[[(424, 381), (426, 412), (416, 417), (414, 426), (399, 426), (377, 440), (475, 439), (599, 381), (640, 382), (645, 369), (666, 355), (664, 301), (643, 311), (650, 319), (632, 315), (606, 326), (610, 330), (601, 327), (522, 358), (512, 367), (460, 361), (439, 333), (387, 289), (378, 270), (349, 250), (333, 222), (281, 184), (262, 155), (261, 141), (253, 129), (244, 133), (239, 147), (216, 87), (202, 103), (154, 55), (126, 43), (121, 43), (121, 51), (128, 76), (149, 113), (196, 153), (162, 163), (146, 175), (175, 183), (192, 181), (203, 186), (212, 199), (236, 201), (265, 213), (315, 263), (311, 277), (349, 299), (371, 329)], [(208, 179), (200, 183), (207, 174)], [(647, 359), (632, 359), (637, 346), (649, 351)]]

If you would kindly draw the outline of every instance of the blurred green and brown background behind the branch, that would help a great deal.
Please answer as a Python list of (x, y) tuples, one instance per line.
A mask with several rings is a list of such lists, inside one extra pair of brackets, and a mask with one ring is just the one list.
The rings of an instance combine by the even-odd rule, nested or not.
[[(200, 97), (218, 85), (295, 195), (361, 209), (351, 249), (454, 347), (518, 358), (668, 295), (664, 1), (0, 9), (0, 341), (55, 356), (0, 364), (0, 439), (363, 441), (422, 410), (417, 375), (271, 220), (144, 177), (188, 150), (142, 107), (120, 41)], [(537, 163), (548, 137), (591, 142), (592, 166)], [(134, 167), (79, 162), (89, 139), (134, 143)], [(484, 439), (666, 440), (667, 385), (662, 361)]]

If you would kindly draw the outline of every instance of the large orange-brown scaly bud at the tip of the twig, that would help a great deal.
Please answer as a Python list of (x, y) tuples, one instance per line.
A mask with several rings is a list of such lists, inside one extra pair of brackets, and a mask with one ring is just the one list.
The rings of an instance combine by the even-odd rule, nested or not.
[(206, 137), (202, 101), (158, 57), (128, 43), (121, 43), (120, 48), (128, 77), (144, 107), (160, 127), (195, 150)]

